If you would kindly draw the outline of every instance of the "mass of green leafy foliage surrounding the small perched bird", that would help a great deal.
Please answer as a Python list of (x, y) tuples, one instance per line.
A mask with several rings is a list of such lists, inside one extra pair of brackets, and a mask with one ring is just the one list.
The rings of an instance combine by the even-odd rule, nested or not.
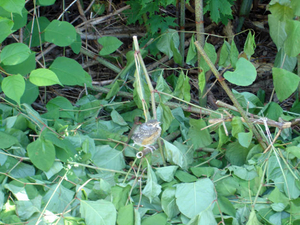
[[(54, 2), (39, 0), (38, 4)], [(156, 16), (159, 7), (171, 3), (128, 1), (137, 12), (136, 20), (146, 13)], [(220, 3), (226, 7), (217, 14), (213, 9), (222, 9)], [(78, 30), (69, 22), (35, 17), (27, 23), (24, 4), (22, 0), (0, 1), (1, 91), (5, 94), (0, 104), (0, 223), (299, 222), (300, 140), (287, 122), (299, 116), (297, 102), (290, 113), (276, 102), (265, 104), (261, 96), (232, 90), (233, 97), (251, 113), (252, 122), (258, 123), (256, 128), (270, 145), (266, 151), (232, 107), (212, 111), (191, 104), (190, 78), (183, 70), (167, 79), (164, 71), (155, 71), (156, 88), (152, 90), (143, 67), (143, 51), (136, 46), (138, 51), (127, 54), (126, 75), (121, 72), (97, 98), (91, 91), (96, 88), (90, 75), (74, 59), (59, 56), (47, 64), (37, 59), (37, 66), (34, 50), (43, 51), (44, 43), (71, 49), (74, 54), (83, 48)], [(208, 2), (217, 21), (230, 15), (230, 4), (225, 0)], [(296, 0), (284, 4), (274, 0), (270, 5), (270, 32), (278, 48), (273, 82), (279, 101), (284, 101), (299, 84), (293, 62), (300, 50), (298, 45), (292, 47), (291, 41), (298, 41), (299, 21), (293, 18), (299, 16), (300, 5)], [(178, 32), (170, 27), (173, 20), (159, 17), (153, 25), (148, 23), (148, 32), (160, 29), (155, 46), (180, 64), (183, 56), (178, 53)], [(133, 22), (134, 18), (129, 18), (129, 23)], [(11, 43), (9, 35), (20, 28), (24, 29), (24, 43)], [(102, 45), (99, 54), (107, 59), (113, 59), (111, 54), (122, 45), (115, 37), (100, 38), (98, 43)], [(214, 46), (206, 43), (204, 50), (215, 64)], [(230, 68), (224, 79), (233, 85), (250, 86), (257, 78), (250, 61), (254, 50), (251, 31), (242, 57), (234, 41), (224, 41), (218, 61), (220, 69)], [(197, 48), (191, 41), (185, 61), (194, 65), (195, 59)], [(200, 67), (209, 71), (208, 59)], [(201, 80), (198, 84), (201, 89)], [(90, 89), (74, 101), (63, 96), (52, 98), (45, 102), (44, 112), (33, 108), (39, 91), (53, 85)], [(123, 94), (126, 91), (123, 97), (120, 90)], [(124, 101), (124, 96), (133, 101)], [(151, 104), (155, 108), (152, 114), (161, 122), (163, 146), (137, 158), (136, 150), (142, 149), (133, 146), (128, 133), (135, 117), (142, 121), (149, 117)], [(195, 119), (191, 112), (205, 116)]]

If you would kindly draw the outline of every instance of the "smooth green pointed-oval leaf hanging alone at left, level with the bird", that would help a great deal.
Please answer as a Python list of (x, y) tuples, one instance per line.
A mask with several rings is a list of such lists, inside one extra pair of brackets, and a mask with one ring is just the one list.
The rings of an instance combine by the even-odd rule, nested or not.
[(28, 156), (37, 168), (48, 171), (55, 160), (55, 148), (48, 140), (37, 139), (27, 146)]

